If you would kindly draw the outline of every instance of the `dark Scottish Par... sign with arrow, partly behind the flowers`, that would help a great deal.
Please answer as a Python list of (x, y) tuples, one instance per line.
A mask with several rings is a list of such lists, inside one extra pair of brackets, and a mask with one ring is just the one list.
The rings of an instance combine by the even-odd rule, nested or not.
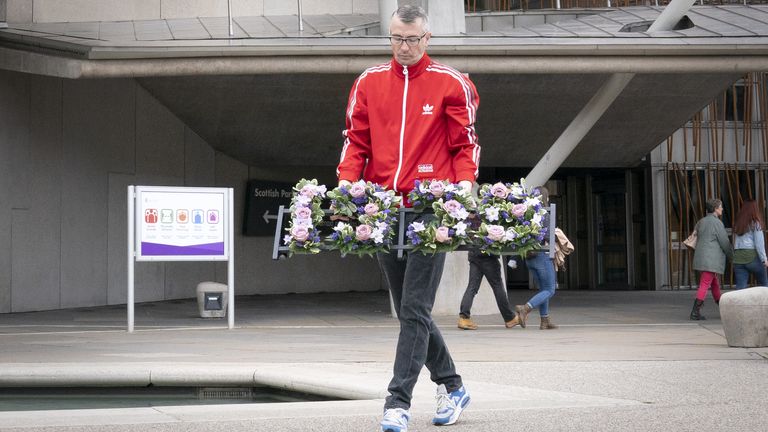
[(246, 236), (272, 237), (275, 235), (277, 209), (291, 205), (293, 184), (266, 180), (249, 180), (246, 197), (245, 226)]

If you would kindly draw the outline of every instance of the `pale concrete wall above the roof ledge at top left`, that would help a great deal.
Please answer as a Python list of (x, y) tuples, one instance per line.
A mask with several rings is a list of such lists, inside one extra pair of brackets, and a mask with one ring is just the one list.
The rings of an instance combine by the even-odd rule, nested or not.
[[(227, 0), (2, 0), (9, 22), (130, 21), (227, 15)], [(232, 0), (234, 16), (296, 15), (295, 0)], [(378, 13), (378, 0), (302, 0), (302, 12)]]

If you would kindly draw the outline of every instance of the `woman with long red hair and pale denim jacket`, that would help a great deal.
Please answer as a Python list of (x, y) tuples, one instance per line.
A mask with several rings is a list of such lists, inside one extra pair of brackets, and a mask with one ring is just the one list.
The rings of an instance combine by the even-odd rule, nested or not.
[(755, 200), (744, 201), (733, 224), (733, 272), (736, 289), (747, 287), (749, 275), (758, 286), (768, 286), (768, 258), (765, 256), (763, 215)]

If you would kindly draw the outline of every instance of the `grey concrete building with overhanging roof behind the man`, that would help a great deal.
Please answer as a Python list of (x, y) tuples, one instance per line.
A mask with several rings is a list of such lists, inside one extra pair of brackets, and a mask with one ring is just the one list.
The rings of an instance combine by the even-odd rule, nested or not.
[[(245, 225), (249, 180), (295, 182), (301, 177), (315, 177), (327, 185), (335, 183), (333, 167), (349, 86), (364, 65), (388, 56), (388, 47), (369, 37), (377, 31), (373, 25), (376, 20), (372, 21), (370, 16), (378, 19), (378, 2), (304, 1), (303, 12), (315, 14), (307, 23), (317, 33), (303, 39), (290, 33), (296, 19), (296, 11), (291, 9), (295, 2), (234, 1), (235, 11), (240, 11), (240, 30), (279, 32), (279, 36), (270, 36), (277, 40), (277, 45), (285, 48), (292, 44), (286, 48), (292, 51), (277, 60), (263, 51), (248, 57), (248, 44), (255, 37), (238, 37), (232, 44), (226, 37), (219, 37), (222, 17), (226, 15), (225, 1), (76, 3), (0, 0), (0, 10), (12, 30), (0, 35), (0, 65), (5, 67), (0, 67), (0, 313), (124, 303), (125, 194), (131, 184), (235, 189), (238, 294), (381, 288), (373, 260), (321, 254), (273, 261), (273, 238), (247, 236), (239, 229)], [(527, 19), (535, 20), (530, 21), (533, 24), (549, 25), (597, 12), (600, 11), (536, 12)], [(329, 17), (330, 13), (344, 16)], [(251, 14), (252, 19), (244, 17), (245, 14)], [(199, 16), (216, 19), (187, 20)], [(514, 20), (524, 22), (523, 18), (525, 15), (517, 12), (474, 13), (467, 16), (467, 32), (503, 33), (508, 29), (514, 33)], [(140, 21), (130, 23), (130, 35), (121, 36), (115, 32), (127, 27), (114, 21), (118, 19)], [(79, 22), (67, 22), (73, 20)], [(332, 21), (337, 22), (335, 27), (324, 27)], [(356, 27), (348, 22), (363, 25)], [(581, 23), (576, 24), (584, 28)], [(48, 39), (40, 36), (43, 30), (56, 28), (60, 35)], [(164, 36), (169, 38), (167, 46), (165, 40), (150, 40), (157, 29), (169, 35)], [(516, 39), (516, 43), (534, 44), (541, 34), (554, 30), (557, 28), (538, 28), (539, 33)], [(191, 38), (196, 31), (205, 32), (205, 40), (184, 39)], [(357, 45), (344, 45), (351, 38), (328, 37), (333, 32), (354, 33), (360, 38), (355, 39)], [(524, 30), (518, 28), (517, 32)], [(109, 50), (114, 48), (108, 46), (109, 37), (114, 35), (124, 36), (127, 42)], [(509, 37), (512, 36), (503, 34), (494, 42), (503, 44)], [(45, 46), (32, 49), (22, 45), (30, 39), (34, 39), (32, 45), (44, 42)], [(322, 42), (314, 42), (321, 39)], [(574, 39), (584, 45), (578, 47)], [(616, 39), (621, 42), (621, 38)], [(88, 43), (75, 43), (78, 40)], [(480, 181), (513, 181), (525, 176), (612, 71), (592, 70), (579, 75), (578, 70), (603, 67), (611, 61), (611, 67), (620, 68), (622, 62), (610, 58), (632, 49), (624, 45), (595, 48), (590, 39), (569, 37), (562, 46), (555, 47), (550, 39), (540, 46), (525, 45), (520, 52), (509, 54), (511, 48), (507, 46), (488, 47), (489, 40), (487, 34), (458, 43), (445, 38), (436, 40), (435, 47), (439, 56), (468, 70), (481, 89), (483, 111), (478, 131), (481, 144), (487, 145)], [(471, 46), (473, 51), (489, 50), (490, 54), (456, 55), (461, 49), (468, 50), (470, 44), (475, 44)], [(573, 47), (581, 54), (590, 50), (595, 59), (592, 66), (584, 62), (587, 55), (571, 56), (567, 50)], [(637, 50), (658, 49), (662, 52), (660, 57), (664, 57), (666, 48), (654, 48), (647, 43)], [(229, 57), (221, 54), (227, 49), (234, 51)], [(259, 49), (275, 50), (272, 45)], [(603, 56), (606, 49), (614, 50), (612, 56)], [(324, 50), (322, 55), (317, 55), (320, 50)], [(557, 52), (552, 54), (552, 62), (542, 64), (536, 62), (537, 56), (526, 56), (525, 50), (536, 50), (537, 54)], [(215, 53), (211, 57), (200, 54), (211, 51)], [(719, 55), (728, 55), (722, 54), (726, 51), (719, 51)], [(180, 63), (176, 58), (161, 58), (170, 57), (168, 52), (188, 55), (191, 60)], [(221, 58), (216, 58), (219, 55)], [(314, 66), (311, 61), (317, 58), (313, 56), (324, 58), (325, 63)], [(151, 76), (152, 72), (130, 76), (142, 72), (134, 64), (156, 66), (155, 59), (180, 69), (152, 69), (164, 76)], [(302, 61), (307, 70), (327, 68), (333, 72), (284, 72), (291, 64)], [(635, 64), (644, 62), (643, 59)], [(231, 69), (210, 72), (224, 63)], [(119, 67), (110, 65), (123, 65), (123, 70), (129, 72), (111, 78), (109, 74)], [(208, 68), (206, 75), (195, 76), (195, 65)], [(279, 72), (264, 72), (271, 67)], [(562, 68), (572, 69), (566, 73), (559, 70)], [(97, 69), (101, 74), (98, 77), (79, 77), (74, 73)], [(242, 72), (251, 69), (259, 72)], [(650, 155), (648, 150), (684, 123), (690, 112), (705, 105), (722, 87), (740, 76), (741, 73), (731, 71), (717, 72), (702, 76), (698, 84), (691, 83), (680, 72), (638, 76), (635, 86), (619, 100), (616, 109), (607, 113), (605, 123), (598, 125), (570, 163), (555, 173), (549, 185), (559, 209), (558, 226), (576, 245), (567, 270), (560, 273), (561, 289), (664, 289), (690, 285), (672, 282), (687, 270), (676, 264), (678, 255), (665, 254), (665, 250), (672, 249), (667, 245), (677, 241), (687, 229), (686, 222), (670, 219), (670, 215), (678, 214), (679, 208), (670, 192), (670, 185), (674, 184), (670, 179), (675, 178), (675, 173), (679, 175), (674, 164), (710, 163), (716, 167), (739, 163), (746, 167), (746, 154), (726, 150), (728, 145), (724, 143), (733, 137), (734, 148), (749, 146), (752, 157), (749, 169), (737, 170), (737, 183), (739, 179), (753, 179), (747, 183), (754, 184), (752, 191), (758, 193), (758, 186), (765, 180), (761, 170), (765, 168), (766, 153), (765, 144), (760, 153), (756, 143), (765, 142), (758, 140), (765, 128), (751, 122), (751, 132), (746, 134), (746, 129), (734, 120), (728, 128), (704, 133), (707, 128), (699, 130), (695, 126), (711, 121), (704, 118), (715, 117), (701, 114)], [(734, 94), (737, 98), (739, 94), (752, 95), (756, 86), (750, 86), (749, 92), (744, 87), (742, 93), (736, 90)], [(682, 96), (667, 96), (675, 91)], [(758, 109), (752, 108), (758, 107), (757, 96), (749, 97), (750, 108), (743, 112), (745, 118)], [(687, 105), (670, 108), (664, 105), (668, 99), (685, 99)], [(537, 105), (542, 100), (549, 104)], [(638, 114), (633, 104), (664, 109)], [(697, 106), (690, 109), (693, 105)], [(726, 108), (721, 107), (718, 112), (727, 111), (731, 105), (732, 102), (723, 104)], [(740, 115), (738, 109), (733, 112)], [(287, 120), (293, 116), (303, 120)], [(663, 124), (666, 126), (658, 127)], [(622, 141), (624, 135), (620, 132), (625, 128), (642, 128), (647, 136), (636, 135), (643, 135), (644, 142), (655, 141), (650, 145)], [(712, 159), (705, 149), (715, 147), (710, 141), (694, 146), (694, 136), (699, 140), (711, 136), (707, 139), (714, 140), (717, 149), (723, 149), (713, 150)], [(687, 145), (680, 146), (681, 141)], [(311, 151), (307, 151), (307, 143), (312, 143)], [(693, 158), (696, 154), (699, 156)], [(683, 168), (686, 172), (692, 169)], [(745, 170), (752, 174), (745, 174)], [(722, 176), (723, 182), (729, 178), (733, 179), (733, 174)], [(695, 179), (692, 181), (695, 183)], [(723, 182), (713, 180), (711, 193), (721, 195), (717, 188)], [(667, 205), (667, 199), (672, 205)], [(136, 270), (139, 302), (192, 297), (198, 282), (226, 280), (224, 264), (140, 263)], [(528, 284), (524, 266), (510, 272), (507, 279), (511, 287), (526, 288)]]

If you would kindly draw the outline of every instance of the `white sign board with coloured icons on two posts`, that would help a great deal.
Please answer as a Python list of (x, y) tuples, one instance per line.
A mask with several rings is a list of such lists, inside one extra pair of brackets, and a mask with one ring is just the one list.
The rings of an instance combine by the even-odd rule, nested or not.
[(128, 186), (128, 332), (135, 261), (227, 261), (228, 327), (235, 324), (232, 188)]

